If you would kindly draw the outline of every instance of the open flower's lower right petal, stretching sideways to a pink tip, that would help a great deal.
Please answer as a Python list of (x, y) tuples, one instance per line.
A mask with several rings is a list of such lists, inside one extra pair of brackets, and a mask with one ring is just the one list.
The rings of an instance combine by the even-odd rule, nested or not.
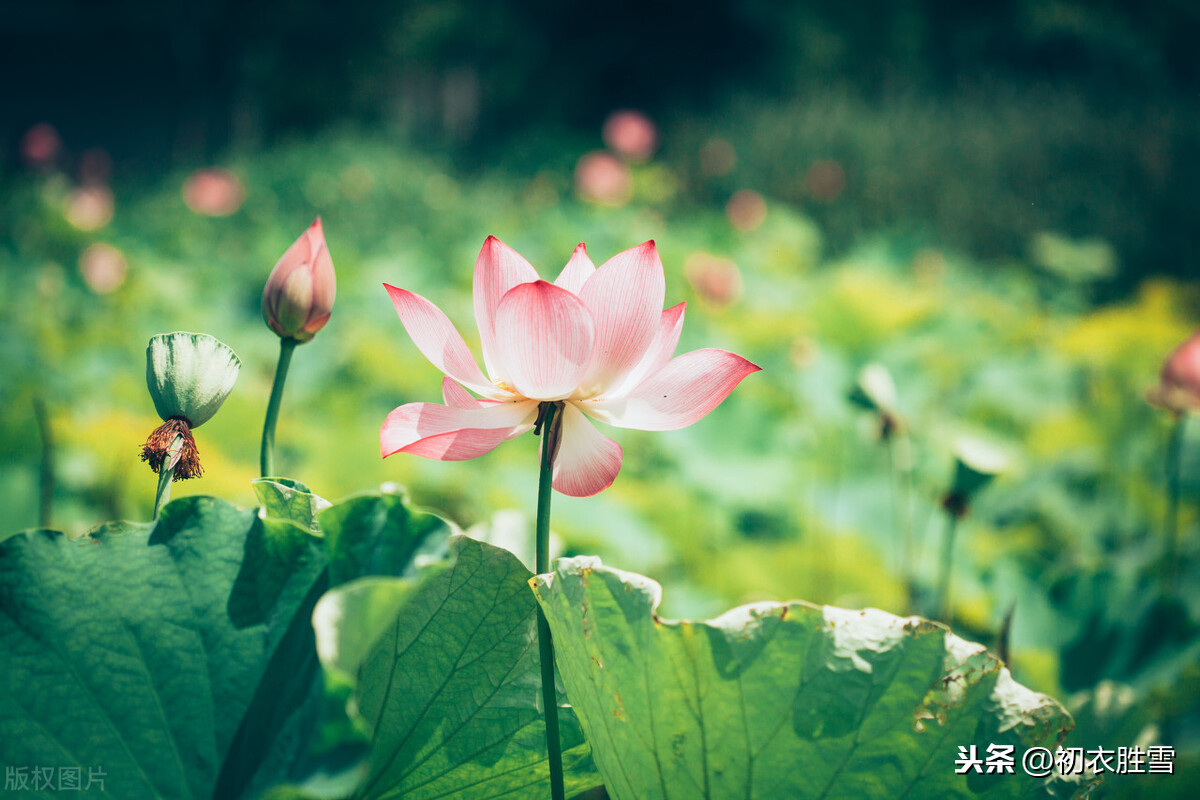
[(674, 431), (702, 419), (758, 369), (726, 350), (692, 350), (672, 359), (624, 397), (580, 405), (588, 415), (622, 428)]

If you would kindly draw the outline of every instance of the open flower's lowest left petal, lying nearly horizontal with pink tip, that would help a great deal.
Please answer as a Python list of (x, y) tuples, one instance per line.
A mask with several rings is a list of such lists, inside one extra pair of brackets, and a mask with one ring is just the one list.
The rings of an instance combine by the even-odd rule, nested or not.
[(475, 458), (532, 428), (536, 415), (533, 401), (475, 409), (407, 403), (384, 420), (379, 450), (384, 458), (398, 452), (438, 461)]

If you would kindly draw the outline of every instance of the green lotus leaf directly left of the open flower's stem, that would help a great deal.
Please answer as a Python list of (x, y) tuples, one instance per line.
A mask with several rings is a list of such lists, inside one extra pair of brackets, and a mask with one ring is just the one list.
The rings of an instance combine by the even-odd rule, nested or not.
[[(355, 798), (548, 795), (530, 578), (508, 551), (452, 536), (412, 577), (354, 581), (322, 599), (322, 663), (353, 687), (349, 708), (370, 739)], [(598, 784), (570, 710), (560, 718), (568, 787)]]

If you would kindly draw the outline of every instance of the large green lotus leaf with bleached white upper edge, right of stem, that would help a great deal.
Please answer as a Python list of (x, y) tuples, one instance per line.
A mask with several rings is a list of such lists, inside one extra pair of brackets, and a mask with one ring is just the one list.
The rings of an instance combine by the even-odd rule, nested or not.
[[(659, 584), (594, 558), (558, 561), (535, 591), (618, 800), (1043, 796), (1020, 756), (1072, 727), (918, 618), (791, 602), (668, 621)], [(955, 774), (959, 746), (989, 744), (1014, 745), (1015, 775)]]

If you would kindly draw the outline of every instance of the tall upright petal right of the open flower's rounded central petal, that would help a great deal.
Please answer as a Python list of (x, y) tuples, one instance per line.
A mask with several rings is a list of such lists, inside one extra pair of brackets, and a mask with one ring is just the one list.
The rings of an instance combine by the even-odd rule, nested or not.
[(628, 374), (650, 347), (666, 281), (653, 241), (605, 261), (580, 291), (595, 320), (595, 356), (582, 389), (601, 392)]

